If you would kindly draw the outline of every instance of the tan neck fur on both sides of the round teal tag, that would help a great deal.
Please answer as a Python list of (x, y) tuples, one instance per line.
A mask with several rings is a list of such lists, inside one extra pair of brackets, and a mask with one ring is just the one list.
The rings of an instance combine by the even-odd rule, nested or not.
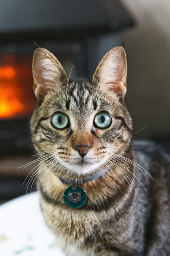
[[(79, 185), (86, 190), (88, 196), (88, 201), (86, 205), (84, 205), (85, 208), (91, 209), (95, 205), (98, 207), (100, 202), (106, 202), (107, 205), (108, 200), (111, 200), (114, 204), (117, 200), (122, 200), (124, 197), (127, 198), (128, 194), (133, 193), (133, 182), (135, 182), (134, 166), (132, 163), (126, 162), (126, 159), (133, 160), (132, 150), (128, 150), (128, 152), (124, 154), (124, 157), (119, 158), (119, 161), (117, 161), (115, 165), (113, 165), (115, 161), (113, 159), (113, 161), (107, 165), (109, 171), (104, 175)], [(57, 203), (64, 206), (62, 194), (70, 184), (63, 184), (52, 172), (47, 172), (46, 170), (39, 176), (38, 185), (39, 183), (41, 193), (50, 195), (54, 200), (57, 200)]]

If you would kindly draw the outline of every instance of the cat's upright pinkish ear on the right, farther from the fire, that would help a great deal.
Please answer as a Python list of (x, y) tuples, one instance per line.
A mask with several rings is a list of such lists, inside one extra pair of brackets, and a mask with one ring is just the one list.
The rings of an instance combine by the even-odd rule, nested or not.
[(117, 46), (102, 58), (93, 75), (92, 83), (100, 84), (102, 90), (111, 90), (124, 98), (126, 94), (126, 75), (126, 52), (122, 46)]

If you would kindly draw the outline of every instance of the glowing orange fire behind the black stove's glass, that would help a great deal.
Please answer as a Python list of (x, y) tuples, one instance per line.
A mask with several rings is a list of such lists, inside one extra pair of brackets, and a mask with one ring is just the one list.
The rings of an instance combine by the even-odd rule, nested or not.
[(0, 66), (0, 119), (30, 116), (35, 104), (28, 58), (5, 56)]

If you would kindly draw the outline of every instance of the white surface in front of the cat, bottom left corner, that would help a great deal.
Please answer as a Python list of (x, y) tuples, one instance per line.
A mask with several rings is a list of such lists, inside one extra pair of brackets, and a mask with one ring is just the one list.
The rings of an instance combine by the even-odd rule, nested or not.
[(44, 222), (37, 192), (0, 206), (0, 256), (64, 256)]

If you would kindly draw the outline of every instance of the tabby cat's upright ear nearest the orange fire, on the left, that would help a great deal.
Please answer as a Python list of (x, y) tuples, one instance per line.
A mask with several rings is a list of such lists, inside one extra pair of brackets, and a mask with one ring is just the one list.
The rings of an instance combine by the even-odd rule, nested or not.
[(33, 54), (33, 80), (35, 96), (44, 97), (50, 90), (59, 91), (67, 83), (67, 75), (57, 58), (44, 48), (37, 48)]

